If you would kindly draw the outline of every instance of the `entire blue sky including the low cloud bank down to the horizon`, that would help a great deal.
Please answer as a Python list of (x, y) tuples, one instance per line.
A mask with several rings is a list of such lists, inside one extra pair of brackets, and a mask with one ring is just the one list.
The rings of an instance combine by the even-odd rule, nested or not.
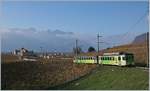
[(3, 1), (1, 10), (2, 51), (71, 51), (76, 39), (84, 49), (96, 48), (97, 33), (110, 43), (101, 44), (106, 48), (148, 31), (148, 2)]

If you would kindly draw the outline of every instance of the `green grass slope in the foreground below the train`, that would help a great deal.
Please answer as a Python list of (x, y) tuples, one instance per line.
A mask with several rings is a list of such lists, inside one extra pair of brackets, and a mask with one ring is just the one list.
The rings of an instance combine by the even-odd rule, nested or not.
[(135, 67), (99, 67), (92, 74), (49, 89), (64, 90), (147, 90), (148, 70)]

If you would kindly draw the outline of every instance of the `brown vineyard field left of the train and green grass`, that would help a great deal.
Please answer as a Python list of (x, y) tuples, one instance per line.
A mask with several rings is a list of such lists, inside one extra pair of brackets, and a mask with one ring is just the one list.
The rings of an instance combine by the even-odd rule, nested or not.
[(2, 89), (47, 89), (83, 76), (95, 65), (73, 64), (72, 59), (2, 63)]

